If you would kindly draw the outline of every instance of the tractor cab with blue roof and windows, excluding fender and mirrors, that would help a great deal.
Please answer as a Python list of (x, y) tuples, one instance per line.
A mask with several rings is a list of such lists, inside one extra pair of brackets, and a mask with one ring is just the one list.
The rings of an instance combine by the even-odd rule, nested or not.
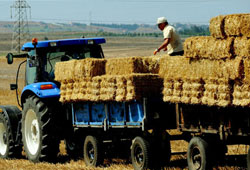
[(104, 38), (49, 40), (24, 44), (22, 50), (28, 52), (26, 85), (54, 81), (56, 62), (104, 58), (100, 46), (102, 43), (105, 43)]

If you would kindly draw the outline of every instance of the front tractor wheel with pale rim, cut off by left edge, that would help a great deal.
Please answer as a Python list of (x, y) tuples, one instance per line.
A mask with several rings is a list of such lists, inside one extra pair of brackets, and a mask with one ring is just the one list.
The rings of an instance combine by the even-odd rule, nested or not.
[(9, 118), (0, 112), (0, 158), (18, 158), (21, 152), (22, 147), (15, 145)]

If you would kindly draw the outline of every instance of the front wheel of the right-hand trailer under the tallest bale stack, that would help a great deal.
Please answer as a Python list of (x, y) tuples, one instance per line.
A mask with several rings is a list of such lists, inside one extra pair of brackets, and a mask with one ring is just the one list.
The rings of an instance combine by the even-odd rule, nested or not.
[(189, 170), (210, 170), (208, 143), (200, 137), (193, 137), (189, 142), (187, 163)]

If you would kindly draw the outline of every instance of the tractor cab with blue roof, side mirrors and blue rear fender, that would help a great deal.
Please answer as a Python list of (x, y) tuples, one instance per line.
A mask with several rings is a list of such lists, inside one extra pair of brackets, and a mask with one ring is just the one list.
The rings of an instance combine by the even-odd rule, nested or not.
[[(101, 44), (104, 38), (79, 38), (63, 40), (37, 41), (25, 43), (22, 47), (24, 54), (13, 55), (9, 53), (6, 58), (8, 64), (13, 63), (13, 58), (26, 58), (20, 63), (17, 70), (16, 84), (10, 84), (11, 90), (16, 90), (18, 99), (18, 75), (22, 64), (26, 63), (25, 84), (22, 90), (21, 103), (27, 95), (36, 94), (39, 98), (59, 96), (60, 84), (56, 81), (54, 70), (56, 62), (80, 60), (85, 58), (104, 58)], [(50, 87), (48, 90), (47, 85)], [(18, 104), (21, 106), (19, 100)]]

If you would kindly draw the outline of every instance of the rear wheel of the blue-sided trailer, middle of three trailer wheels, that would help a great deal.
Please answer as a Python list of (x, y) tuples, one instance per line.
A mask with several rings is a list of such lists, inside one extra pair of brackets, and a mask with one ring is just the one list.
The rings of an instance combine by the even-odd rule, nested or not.
[(149, 142), (142, 137), (136, 137), (131, 146), (132, 165), (135, 170), (143, 170), (150, 168), (150, 145)]

